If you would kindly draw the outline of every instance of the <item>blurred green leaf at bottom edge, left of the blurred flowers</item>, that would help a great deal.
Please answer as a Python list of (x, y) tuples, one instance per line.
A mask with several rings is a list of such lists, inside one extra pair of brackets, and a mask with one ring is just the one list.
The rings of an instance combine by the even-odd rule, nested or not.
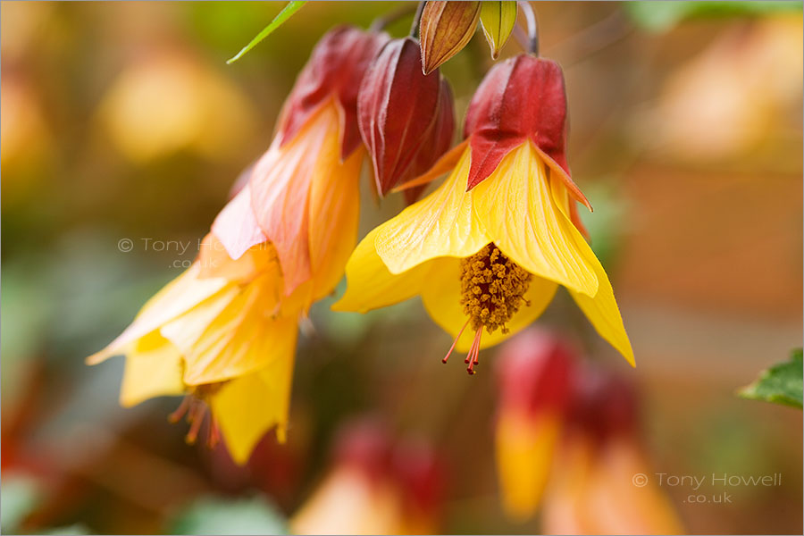
[(173, 534), (285, 534), (285, 520), (262, 497), (202, 497), (173, 518)]

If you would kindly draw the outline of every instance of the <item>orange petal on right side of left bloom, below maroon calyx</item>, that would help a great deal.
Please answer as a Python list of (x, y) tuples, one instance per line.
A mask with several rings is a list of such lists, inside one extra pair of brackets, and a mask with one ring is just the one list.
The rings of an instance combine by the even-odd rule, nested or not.
[(343, 277), (344, 266), (355, 248), (363, 160), (361, 148), (344, 163), (319, 161), (314, 174), (309, 209), (313, 300), (331, 293)]

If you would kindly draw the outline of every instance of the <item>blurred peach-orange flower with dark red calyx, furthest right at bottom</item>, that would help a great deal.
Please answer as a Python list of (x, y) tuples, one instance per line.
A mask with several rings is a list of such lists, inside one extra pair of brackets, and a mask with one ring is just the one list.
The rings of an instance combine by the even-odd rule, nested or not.
[[(545, 494), (546, 534), (682, 534), (643, 454), (632, 386), (587, 368), (574, 379), (565, 437)], [(642, 479), (641, 477), (645, 477)]]

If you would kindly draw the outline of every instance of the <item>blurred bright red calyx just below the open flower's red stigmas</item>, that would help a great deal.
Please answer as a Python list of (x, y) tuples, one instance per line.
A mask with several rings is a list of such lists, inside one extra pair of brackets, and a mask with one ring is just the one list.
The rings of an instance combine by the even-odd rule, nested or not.
[(564, 414), (572, 390), (576, 356), (549, 333), (524, 331), (503, 347), (498, 358), (500, 408), (529, 415)]

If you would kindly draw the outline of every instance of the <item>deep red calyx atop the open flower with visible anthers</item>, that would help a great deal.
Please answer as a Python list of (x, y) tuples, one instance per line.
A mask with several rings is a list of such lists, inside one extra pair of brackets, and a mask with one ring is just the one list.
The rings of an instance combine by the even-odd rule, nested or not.
[(564, 73), (552, 60), (520, 54), (491, 68), (474, 93), (464, 135), (472, 164), (467, 189), (497, 169), (511, 149), (531, 139), (571, 195), (588, 205), (566, 163), (567, 110)]

